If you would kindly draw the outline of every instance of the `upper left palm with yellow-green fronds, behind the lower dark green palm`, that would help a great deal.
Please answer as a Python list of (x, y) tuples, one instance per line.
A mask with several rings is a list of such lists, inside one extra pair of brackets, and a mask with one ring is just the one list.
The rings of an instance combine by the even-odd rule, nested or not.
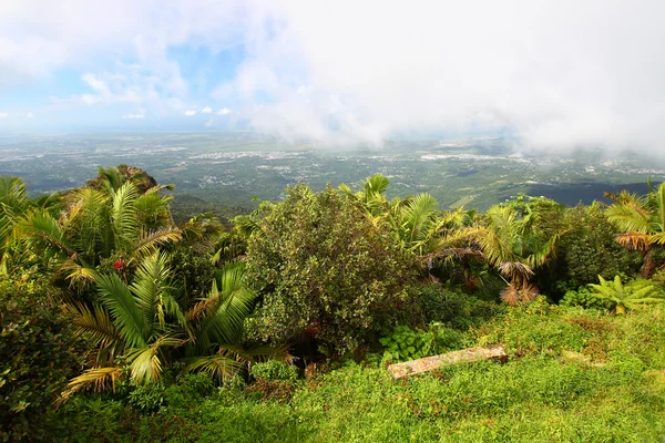
[(126, 268), (182, 238), (171, 220), (171, 197), (160, 195), (165, 187), (140, 193), (132, 181), (103, 183), (101, 189), (82, 187), (65, 194), (59, 215), (33, 208), (20, 222), (24, 243), (45, 257), (47, 267), (83, 287), (93, 281), (104, 258), (115, 256)]

